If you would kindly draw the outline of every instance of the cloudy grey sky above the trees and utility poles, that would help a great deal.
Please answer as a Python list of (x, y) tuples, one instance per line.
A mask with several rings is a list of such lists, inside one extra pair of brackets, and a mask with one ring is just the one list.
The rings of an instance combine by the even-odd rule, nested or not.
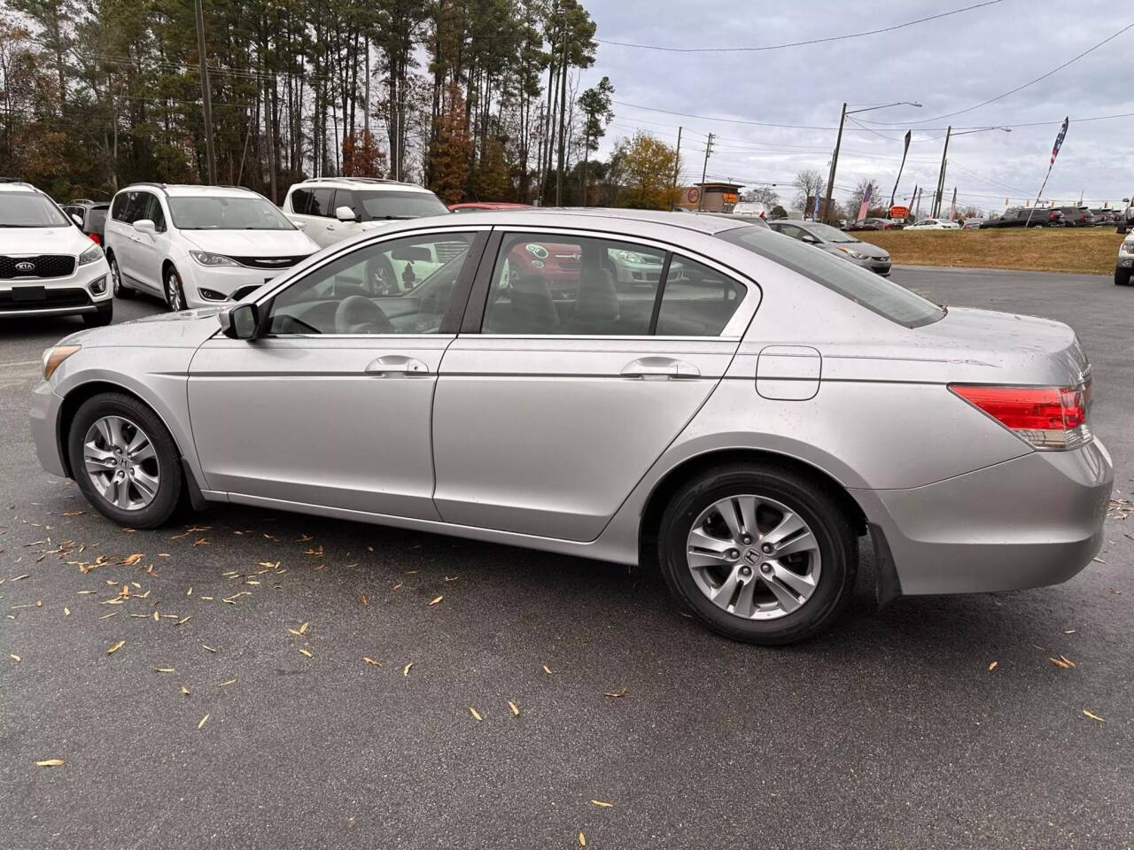
[[(596, 37), (607, 42), (747, 48), (880, 29), (980, 1), (587, 0), (586, 7), (598, 24)], [(863, 124), (847, 120), (837, 198), (862, 178), (875, 179), (888, 196), (906, 129), (914, 134), (898, 198), (908, 197), (915, 184), (936, 186), (951, 124), (947, 190), (951, 195), (957, 187), (958, 206), (990, 211), (1004, 210), (1009, 197), (1013, 205), (1034, 197), (1059, 124), (1069, 116), (1044, 197), (1073, 203), (1082, 193), (1084, 203), (1115, 205), (1134, 193), (1134, 28), (1046, 79), (970, 108), (1051, 71), (1132, 24), (1134, 6), (1125, 3), (998, 0), (887, 33), (780, 50), (680, 53), (600, 43), (583, 85), (602, 75), (615, 85), (607, 148), (635, 129), (674, 144), (680, 125), (683, 177), (693, 181), (700, 179), (705, 135), (712, 131), (719, 142), (710, 176), (778, 184), (785, 202), (795, 196), (790, 182), (799, 169), (826, 176), (844, 101), (848, 110), (894, 101), (922, 107), (854, 116)], [(951, 114), (960, 110), (968, 111)], [(1132, 114), (1082, 120), (1120, 113)], [(1044, 124), (959, 135), (1033, 122)]]

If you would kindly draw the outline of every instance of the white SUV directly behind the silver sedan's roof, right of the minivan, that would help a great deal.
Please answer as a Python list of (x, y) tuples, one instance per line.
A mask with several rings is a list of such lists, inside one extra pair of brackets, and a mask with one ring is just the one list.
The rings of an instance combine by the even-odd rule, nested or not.
[(447, 215), (449, 207), (432, 192), (412, 182), (313, 177), (288, 189), (284, 213), (325, 248), (390, 221)]

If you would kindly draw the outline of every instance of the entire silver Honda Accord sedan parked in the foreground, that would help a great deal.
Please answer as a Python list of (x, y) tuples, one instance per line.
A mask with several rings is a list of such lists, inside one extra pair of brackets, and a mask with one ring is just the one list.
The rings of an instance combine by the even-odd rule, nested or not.
[[(658, 279), (616, 286), (618, 252)], [(1083, 569), (1112, 481), (1090, 396), (1067, 325), (743, 219), (489, 212), (73, 334), (32, 431), (125, 526), (235, 502), (658, 564), (710, 628), (782, 644), (846, 607), (865, 535), (883, 603)]]

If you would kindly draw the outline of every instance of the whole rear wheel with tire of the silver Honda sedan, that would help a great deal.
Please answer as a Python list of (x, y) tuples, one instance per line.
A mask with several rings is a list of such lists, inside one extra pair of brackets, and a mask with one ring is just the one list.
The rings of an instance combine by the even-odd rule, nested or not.
[(753, 644), (826, 629), (858, 571), (857, 541), (835, 499), (772, 465), (718, 467), (686, 484), (658, 542), (674, 595), (709, 628)]

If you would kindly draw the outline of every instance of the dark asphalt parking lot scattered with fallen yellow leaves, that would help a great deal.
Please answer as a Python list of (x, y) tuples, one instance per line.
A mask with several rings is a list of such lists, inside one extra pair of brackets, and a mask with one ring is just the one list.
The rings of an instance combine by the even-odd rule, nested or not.
[[(1134, 290), (894, 278), (1072, 324), (1131, 498)], [(763, 649), (606, 563), (244, 508), (122, 532), (28, 435), (79, 326), (0, 324), (0, 847), (1134, 847), (1129, 501), (1065, 585), (879, 612), (868, 551), (832, 631)]]

